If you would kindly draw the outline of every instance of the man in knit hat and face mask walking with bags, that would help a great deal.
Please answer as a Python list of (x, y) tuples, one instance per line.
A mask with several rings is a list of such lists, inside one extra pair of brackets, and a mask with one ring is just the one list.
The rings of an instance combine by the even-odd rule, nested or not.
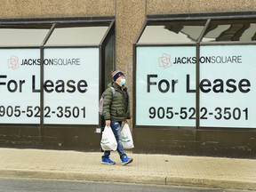
[[(120, 156), (122, 164), (132, 163), (132, 158), (129, 158), (124, 153), (124, 146), (121, 140), (121, 126), (122, 123), (129, 123), (130, 107), (129, 107), (129, 94), (127, 92), (127, 87), (125, 86), (126, 79), (124, 73), (120, 70), (115, 69), (111, 72), (113, 76), (113, 82), (108, 84), (108, 88), (104, 95), (103, 101), (103, 116), (105, 118), (105, 124), (110, 126), (115, 134), (117, 142), (117, 152)], [(115, 89), (115, 94), (113, 94), (110, 87)], [(101, 157), (101, 164), (116, 164), (110, 158), (110, 151), (104, 151)]]

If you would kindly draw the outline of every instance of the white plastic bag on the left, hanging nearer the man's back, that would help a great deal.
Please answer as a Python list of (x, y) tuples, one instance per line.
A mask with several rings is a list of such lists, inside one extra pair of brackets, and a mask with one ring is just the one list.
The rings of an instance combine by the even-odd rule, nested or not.
[(100, 140), (100, 146), (103, 150), (113, 150), (117, 148), (116, 137), (110, 126), (105, 126), (102, 132), (102, 137)]

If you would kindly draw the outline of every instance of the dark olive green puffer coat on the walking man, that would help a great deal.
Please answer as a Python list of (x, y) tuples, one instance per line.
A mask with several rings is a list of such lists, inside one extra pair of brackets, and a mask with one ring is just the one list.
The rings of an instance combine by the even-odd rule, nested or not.
[[(115, 89), (114, 97), (110, 86)], [(115, 82), (108, 84), (103, 101), (103, 116), (105, 120), (115, 121), (131, 118), (127, 87), (120, 87)]]

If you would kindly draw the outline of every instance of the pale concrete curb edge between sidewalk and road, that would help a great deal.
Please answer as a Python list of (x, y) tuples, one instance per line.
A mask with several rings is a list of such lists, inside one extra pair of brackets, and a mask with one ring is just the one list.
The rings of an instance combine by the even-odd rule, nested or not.
[(195, 179), (186, 177), (172, 177), (163, 175), (117, 175), (112, 174), (102, 177), (96, 172), (61, 172), (61, 171), (31, 171), (31, 170), (0, 170), (0, 177), (10, 178), (35, 178), (35, 179), (55, 179), (55, 180), (89, 180), (89, 181), (110, 181), (150, 185), (187, 186), (204, 188), (230, 188), (256, 190), (256, 181), (248, 182), (244, 180), (214, 180)]

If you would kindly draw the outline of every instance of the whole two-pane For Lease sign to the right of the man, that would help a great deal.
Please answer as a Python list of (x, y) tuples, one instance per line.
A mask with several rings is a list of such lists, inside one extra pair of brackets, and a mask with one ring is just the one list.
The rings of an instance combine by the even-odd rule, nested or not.
[[(256, 127), (255, 45), (200, 47), (200, 126)], [(138, 47), (136, 124), (196, 125), (196, 47)]]

